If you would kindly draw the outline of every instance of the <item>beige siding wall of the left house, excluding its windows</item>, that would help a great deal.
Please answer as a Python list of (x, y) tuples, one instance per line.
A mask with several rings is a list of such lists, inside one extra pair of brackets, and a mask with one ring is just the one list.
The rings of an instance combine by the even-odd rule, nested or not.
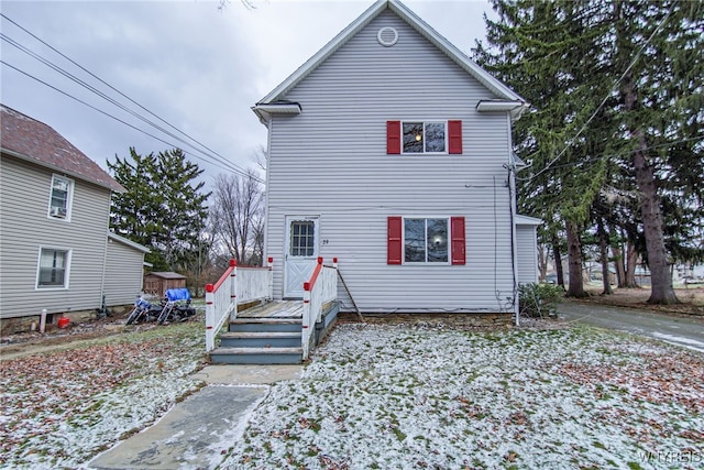
[[(70, 221), (47, 217), (54, 173), (8, 155), (0, 167), (0, 315), (100, 306), (110, 190), (74, 182)], [(58, 174), (58, 173), (57, 173)], [(70, 251), (68, 288), (36, 288), (41, 248)]]

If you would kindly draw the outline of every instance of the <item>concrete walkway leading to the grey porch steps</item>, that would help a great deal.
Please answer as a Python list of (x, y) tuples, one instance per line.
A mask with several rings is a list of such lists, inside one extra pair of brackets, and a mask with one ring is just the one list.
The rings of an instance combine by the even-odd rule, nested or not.
[(209, 469), (241, 438), (268, 384), (296, 380), (301, 365), (210, 365), (194, 375), (207, 386), (151, 427), (90, 461), (89, 469)]

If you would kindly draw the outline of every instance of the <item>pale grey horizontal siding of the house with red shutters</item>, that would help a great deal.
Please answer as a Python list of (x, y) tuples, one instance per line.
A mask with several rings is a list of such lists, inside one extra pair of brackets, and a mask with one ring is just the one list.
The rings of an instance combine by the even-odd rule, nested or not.
[[(377, 31), (393, 26), (384, 47)], [(266, 251), (280, 263), (285, 216), (320, 216), (321, 255), (338, 256), (364, 311), (499, 311), (513, 292), (509, 125), (476, 111), (496, 98), (386, 11), (286, 96), (302, 112), (270, 128)], [(387, 155), (388, 120), (462, 120), (462, 155)], [(466, 219), (466, 265), (387, 265), (388, 216)], [(349, 299), (343, 307), (351, 308)]]

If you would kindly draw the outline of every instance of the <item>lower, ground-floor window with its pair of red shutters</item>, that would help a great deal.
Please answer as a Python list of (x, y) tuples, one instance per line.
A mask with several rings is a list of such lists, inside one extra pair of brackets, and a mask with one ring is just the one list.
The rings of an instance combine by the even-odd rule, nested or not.
[(464, 217), (389, 217), (387, 263), (465, 264)]

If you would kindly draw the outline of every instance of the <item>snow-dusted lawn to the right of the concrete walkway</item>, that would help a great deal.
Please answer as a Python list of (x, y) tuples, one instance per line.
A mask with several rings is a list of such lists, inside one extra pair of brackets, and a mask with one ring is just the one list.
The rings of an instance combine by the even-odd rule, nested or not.
[(704, 357), (588, 328), (341, 325), (222, 468), (702, 468)]

